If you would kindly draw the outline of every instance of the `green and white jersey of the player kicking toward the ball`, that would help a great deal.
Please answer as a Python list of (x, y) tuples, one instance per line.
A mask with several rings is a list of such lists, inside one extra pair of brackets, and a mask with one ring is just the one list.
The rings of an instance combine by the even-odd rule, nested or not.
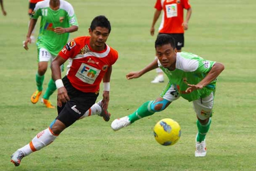
[(199, 83), (209, 73), (214, 63), (192, 53), (180, 52), (177, 53), (176, 69), (170, 71), (164, 68), (158, 60), (158, 66), (167, 75), (175, 90), (188, 101), (204, 98), (215, 90), (216, 79), (203, 89), (194, 90), (191, 93), (185, 92), (189, 87), (187, 84)]

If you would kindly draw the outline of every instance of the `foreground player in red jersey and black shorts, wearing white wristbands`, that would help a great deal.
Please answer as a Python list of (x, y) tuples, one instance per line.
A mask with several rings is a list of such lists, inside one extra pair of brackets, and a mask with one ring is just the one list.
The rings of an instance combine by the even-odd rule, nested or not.
[[(18, 149), (11, 156), (15, 166), (23, 157), (52, 143), (56, 137), (76, 120), (95, 115), (109, 121), (109, 82), (112, 65), (118, 59), (118, 52), (105, 42), (111, 31), (105, 16), (93, 19), (89, 28), (90, 36), (78, 37), (66, 44), (52, 61), (52, 78), (58, 89), (58, 116), (49, 128), (38, 133), (32, 141)], [(67, 75), (61, 79), (60, 66), (70, 58)], [(95, 104), (103, 80), (103, 100)]]

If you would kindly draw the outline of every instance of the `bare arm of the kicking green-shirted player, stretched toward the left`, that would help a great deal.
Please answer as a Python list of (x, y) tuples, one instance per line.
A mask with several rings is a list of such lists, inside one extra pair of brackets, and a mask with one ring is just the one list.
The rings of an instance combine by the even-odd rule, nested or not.
[(158, 63), (157, 63), (157, 59), (155, 59), (153, 62), (151, 62), (150, 64), (148, 64), (145, 68), (143, 68), (140, 71), (133, 71), (130, 72), (128, 74), (126, 74), (126, 78), (127, 80), (133, 79), (133, 78), (139, 78), (141, 77), (143, 74), (146, 74), (147, 72), (154, 70), (158, 68)]

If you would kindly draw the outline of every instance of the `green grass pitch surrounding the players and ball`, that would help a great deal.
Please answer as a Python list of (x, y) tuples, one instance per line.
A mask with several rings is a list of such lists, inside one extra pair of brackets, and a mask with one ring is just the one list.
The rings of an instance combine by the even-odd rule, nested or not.
[[(98, 116), (77, 121), (54, 143), (25, 157), (14, 168), (10, 155), (26, 145), (56, 117), (55, 109), (31, 104), (36, 89), (35, 44), (22, 47), (27, 34), (27, 1), (4, 1), (7, 16), (0, 15), (0, 170), (256, 170), (255, 56), (256, 4), (245, 1), (192, 0), (192, 17), (185, 33), (184, 51), (222, 62), (215, 98), (215, 113), (206, 136), (208, 153), (194, 157), (196, 116), (192, 104), (179, 99), (161, 113), (136, 121), (114, 132), (114, 118), (132, 113), (144, 101), (159, 96), (165, 84), (151, 84), (155, 72), (127, 81), (125, 74), (154, 59), (150, 26), (155, 0), (70, 0), (80, 24), (70, 38), (88, 35), (91, 20), (106, 15), (112, 25), (108, 44), (118, 50), (113, 66), (109, 111), (111, 119)], [(37, 25), (37, 31), (38, 31)], [(159, 21), (155, 29), (157, 30)], [(64, 74), (63, 74), (64, 75)], [(50, 78), (47, 71), (44, 91)], [(101, 94), (99, 99), (101, 98)], [(51, 100), (56, 105), (56, 92)], [(174, 146), (159, 145), (153, 127), (163, 118), (180, 123), (182, 135)]]

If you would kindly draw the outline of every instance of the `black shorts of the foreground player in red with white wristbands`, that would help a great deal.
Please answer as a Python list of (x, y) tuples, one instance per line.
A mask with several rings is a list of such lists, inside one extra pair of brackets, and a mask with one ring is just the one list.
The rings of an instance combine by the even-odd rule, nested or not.
[(85, 114), (97, 100), (99, 93), (84, 93), (74, 88), (67, 76), (62, 78), (63, 84), (68, 91), (70, 101), (62, 103), (58, 101), (58, 116), (56, 119), (65, 124), (66, 127), (72, 125), (76, 120)]

